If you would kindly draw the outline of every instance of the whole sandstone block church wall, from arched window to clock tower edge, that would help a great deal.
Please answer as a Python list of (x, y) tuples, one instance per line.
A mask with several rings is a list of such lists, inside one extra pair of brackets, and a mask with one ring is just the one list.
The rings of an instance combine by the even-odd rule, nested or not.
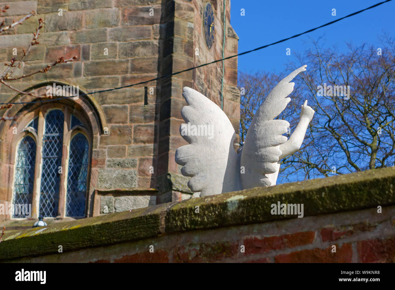
[[(205, 3), (203, 0), (4, 2), (0, 6), (10, 5), (4, 17), (6, 24), (32, 10), (37, 15), (0, 36), (0, 61), (9, 60), (14, 48), (18, 52), (15, 57), (21, 56), (41, 17), (45, 24), (40, 44), (32, 49), (15, 75), (41, 69), (60, 56), (77, 56), (77, 59), (57, 65), (46, 74), (15, 81), (12, 83), (15, 88), (28, 90), (38, 84), (45, 86), (46, 82), (61, 82), (79, 85), (81, 92), (88, 93), (162, 77), (222, 57), (222, 1), (211, 1), (216, 17), (216, 35), (210, 50), (202, 31)], [(237, 53), (237, 36), (230, 26), (229, 11), (230, 1), (227, 0), (226, 56)], [(196, 48), (200, 51), (198, 56), (194, 54)], [(87, 102), (97, 104), (97, 114), (102, 114), (109, 132), (103, 134), (99, 124), (99, 130), (93, 135), (88, 216), (100, 214), (102, 189), (133, 189), (128, 194), (144, 195), (150, 199), (150, 204), (154, 202), (151, 196), (157, 194), (156, 203), (192, 197), (186, 187), (188, 178), (181, 175), (174, 161), (175, 150), (186, 144), (178, 131), (183, 122), (180, 110), (186, 105), (181, 95), (182, 87), (195, 88), (220, 105), (221, 80), (222, 62), (218, 62), (196, 71), (86, 98)], [(236, 84), (237, 58), (234, 58), (225, 62), (224, 110), (238, 135), (239, 93)], [(145, 87), (148, 89), (147, 104), (144, 103)], [(22, 98), (15, 96), (13, 90), (0, 85), (0, 102)], [(22, 115), (32, 109), (13, 107), (2, 110), (0, 115), (12, 116), (17, 112)], [(89, 114), (89, 111), (85, 113)], [(12, 196), (14, 161), (11, 155), (15, 148), (9, 148), (7, 135), (14, 125), (0, 122), (0, 202), (11, 201)], [(135, 189), (140, 191), (136, 193)], [(150, 189), (157, 192), (147, 193)], [(99, 190), (96, 195), (95, 190)]]

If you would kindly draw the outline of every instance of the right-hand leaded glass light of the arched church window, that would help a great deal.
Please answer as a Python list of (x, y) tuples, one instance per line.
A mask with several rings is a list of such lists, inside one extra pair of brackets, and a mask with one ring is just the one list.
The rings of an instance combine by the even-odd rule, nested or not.
[(70, 141), (69, 172), (67, 179), (66, 215), (85, 216), (89, 143), (85, 135), (77, 133)]

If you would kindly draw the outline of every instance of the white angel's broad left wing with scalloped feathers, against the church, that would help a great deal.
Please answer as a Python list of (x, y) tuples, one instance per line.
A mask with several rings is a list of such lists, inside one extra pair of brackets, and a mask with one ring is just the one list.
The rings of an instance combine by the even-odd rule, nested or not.
[(233, 149), (235, 130), (228, 116), (210, 99), (184, 87), (188, 106), (181, 110), (186, 122), (180, 127), (189, 144), (179, 147), (175, 161), (183, 165), (181, 173), (191, 176), (188, 187), (200, 196), (241, 189), (240, 154)]

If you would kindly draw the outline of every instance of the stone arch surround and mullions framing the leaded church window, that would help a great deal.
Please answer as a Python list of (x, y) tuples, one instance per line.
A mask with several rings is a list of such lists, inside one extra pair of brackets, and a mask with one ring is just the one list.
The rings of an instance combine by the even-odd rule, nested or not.
[[(62, 86), (60, 94), (57, 91), (57, 86)], [(79, 97), (66, 97), (67, 90), (65, 86), (70, 86), (64, 82), (56, 80), (46, 80), (38, 84), (34, 84), (28, 88), (24, 88), (24, 92), (32, 92), (34, 95), (45, 95), (48, 91), (48, 86), (52, 88), (56, 86), (56, 96), (42, 97), (38, 99), (32, 95), (18, 94), (9, 103), (13, 103), (9, 109), (1, 110), (0, 116), (13, 117), (13, 120), (5, 120), (0, 122), (0, 200), (12, 204), (21, 198), (28, 198), (31, 200), (31, 217), (36, 219), (40, 216), (40, 194), (41, 194), (41, 175), (42, 175), (42, 150), (43, 150), (43, 135), (45, 130), (45, 117), (48, 112), (54, 109), (62, 110), (64, 113), (63, 121), (63, 144), (62, 144), (62, 174), (59, 180), (59, 195), (57, 197), (58, 211), (56, 216), (66, 217), (71, 215), (81, 215), (82, 206), (73, 208), (73, 198), (75, 195), (77, 199), (81, 199), (83, 187), (87, 186), (87, 199), (85, 200), (85, 217), (93, 216), (94, 204), (96, 200), (95, 189), (97, 187), (98, 171), (102, 165), (97, 162), (95, 152), (99, 148), (99, 140), (104, 132), (108, 132), (108, 125), (105, 120), (105, 115), (102, 107), (93, 97), (93, 94), (87, 94), (87, 90), (79, 87)], [(86, 140), (81, 140), (81, 133)], [(19, 146), (24, 137), (30, 136), (36, 145), (36, 155), (34, 169), (34, 181), (32, 194), (29, 196), (29, 187), (24, 188), (24, 182), (28, 180), (28, 176), (24, 173), (25, 179), (20, 179), (20, 183), (15, 183), (15, 177), (19, 174), (17, 171), (27, 170), (27, 168), (17, 167), (18, 155), (23, 157), (22, 152), (19, 151)], [(77, 136), (77, 137), (75, 137)], [(70, 146), (73, 138), (77, 138), (79, 142), (83, 142), (86, 147), (88, 144), (88, 165), (86, 165), (86, 154), (83, 155), (85, 159), (82, 162), (78, 161), (78, 156), (74, 156), (70, 160)], [(77, 139), (74, 142), (77, 142)], [(83, 138), (82, 138), (83, 139)], [(28, 139), (31, 141), (31, 139)], [(25, 139), (26, 141), (26, 139)], [(86, 142), (87, 141), (87, 142)], [(23, 151), (23, 148), (20, 148)], [(26, 150), (25, 150), (26, 151)], [(93, 157), (92, 157), (93, 155)], [(87, 169), (87, 180), (75, 173), (70, 175), (70, 180), (79, 183), (79, 187), (72, 188), (68, 186), (69, 167), (74, 167), (73, 170)], [(73, 179), (74, 178), (74, 179)], [(26, 181), (27, 182), (27, 181)], [(85, 183), (86, 182), (86, 183)], [(31, 182), (27, 182), (27, 185)], [(16, 187), (19, 189), (16, 190)], [(57, 191), (56, 191), (57, 192)], [(23, 195), (24, 194), (24, 195)], [(19, 202), (22, 203), (22, 202)], [(82, 203), (79, 203), (82, 204)], [(14, 215), (15, 212), (8, 211), (6, 219), (19, 219), (30, 216)], [(55, 215), (56, 210), (51, 214)], [(76, 217), (76, 216), (75, 216)]]

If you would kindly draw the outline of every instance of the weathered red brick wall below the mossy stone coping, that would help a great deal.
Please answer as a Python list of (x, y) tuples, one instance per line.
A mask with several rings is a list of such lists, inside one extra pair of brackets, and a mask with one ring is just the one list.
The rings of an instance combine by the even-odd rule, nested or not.
[[(387, 206), (382, 213), (371, 208), (167, 234), (63, 253), (61, 257), (62, 262), (365, 263), (395, 262), (394, 246), (395, 206)], [(55, 262), (59, 258), (54, 254), (21, 262)]]

